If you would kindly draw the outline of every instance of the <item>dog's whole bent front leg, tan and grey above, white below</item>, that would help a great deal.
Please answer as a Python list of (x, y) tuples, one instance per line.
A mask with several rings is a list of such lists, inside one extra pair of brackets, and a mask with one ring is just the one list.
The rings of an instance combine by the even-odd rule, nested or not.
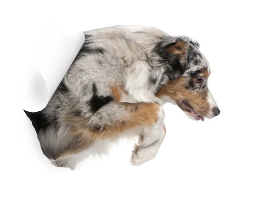
[(94, 129), (89, 130), (86, 135), (93, 139), (111, 139), (118, 137), (120, 133), (139, 131), (140, 141), (133, 151), (131, 162), (140, 165), (157, 154), (165, 137), (163, 119), (164, 112), (160, 104), (115, 101), (95, 114), (94, 122), (91, 122)]

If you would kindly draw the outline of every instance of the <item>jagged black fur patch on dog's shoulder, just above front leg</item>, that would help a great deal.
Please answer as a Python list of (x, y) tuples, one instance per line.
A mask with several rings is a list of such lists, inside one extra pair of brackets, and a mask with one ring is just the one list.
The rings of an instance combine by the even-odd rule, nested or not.
[(89, 104), (91, 106), (91, 110), (95, 113), (105, 104), (113, 101), (113, 97), (111, 96), (98, 96), (96, 85), (93, 83), (93, 97), (90, 100)]

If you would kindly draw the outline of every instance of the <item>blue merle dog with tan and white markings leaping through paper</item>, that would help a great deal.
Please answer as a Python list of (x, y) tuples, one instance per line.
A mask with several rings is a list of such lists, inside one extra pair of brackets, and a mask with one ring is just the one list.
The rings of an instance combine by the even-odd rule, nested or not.
[(220, 113), (197, 41), (148, 26), (111, 26), (84, 37), (47, 107), (25, 111), (52, 164), (74, 169), (120, 137), (138, 136), (131, 163), (140, 165), (154, 158), (165, 137), (164, 103), (195, 120)]

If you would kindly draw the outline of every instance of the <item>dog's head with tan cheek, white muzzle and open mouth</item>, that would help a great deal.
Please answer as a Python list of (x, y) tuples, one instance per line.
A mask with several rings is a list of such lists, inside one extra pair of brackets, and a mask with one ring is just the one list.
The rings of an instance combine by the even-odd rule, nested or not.
[(195, 120), (204, 121), (204, 117), (218, 116), (220, 110), (207, 87), (209, 63), (199, 51), (199, 44), (188, 38), (176, 38), (166, 43), (163, 50), (170, 55), (169, 59), (175, 56), (177, 62), (170, 64), (172, 73), (175, 74), (177, 70), (180, 75), (162, 87), (158, 97), (172, 99), (186, 115)]

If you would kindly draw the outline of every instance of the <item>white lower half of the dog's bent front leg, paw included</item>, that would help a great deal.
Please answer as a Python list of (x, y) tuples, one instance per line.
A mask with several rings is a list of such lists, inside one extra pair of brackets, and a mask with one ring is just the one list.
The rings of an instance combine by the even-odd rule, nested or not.
[(140, 134), (139, 143), (135, 145), (131, 156), (131, 163), (133, 165), (140, 165), (156, 156), (166, 133), (163, 119), (163, 108), (160, 107), (158, 120), (155, 125), (152, 127), (144, 127), (143, 132)]

